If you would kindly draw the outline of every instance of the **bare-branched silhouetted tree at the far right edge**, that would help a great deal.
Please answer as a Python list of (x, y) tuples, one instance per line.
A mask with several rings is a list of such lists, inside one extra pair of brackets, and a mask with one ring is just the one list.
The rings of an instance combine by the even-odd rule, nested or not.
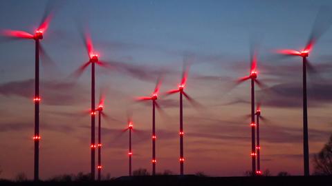
[(317, 175), (332, 175), (332, 135), (324, 147), (313, 157)]

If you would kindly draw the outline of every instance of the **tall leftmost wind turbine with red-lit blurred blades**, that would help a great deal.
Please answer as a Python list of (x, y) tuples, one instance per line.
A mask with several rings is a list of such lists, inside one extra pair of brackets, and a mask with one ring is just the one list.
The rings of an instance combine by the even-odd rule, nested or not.
[(40, 40), (44, 38), (45, 32), (48, 30), (48, 25), (53, 18), (54, 11), (51, 10), (49, 4), (46, 8), (42, 21), (39, 24), (37, 30), (34, 34), (30, 34), (21, 30), (2, 30), (1, 35), (8, 37), (10, 39), (33, 39), (35, 40), (35, 96), (33, 101), (35, 103), (35, 134), (33, 136), (33, 141), (35, 143), (35, 163), (34, 163), (34, 180), (39, 180), (39, 141), (41, 136), (39, 134), (39, 103), (41, 101), (39, 95), (39, 52), (45, 52), (40, 45)]

